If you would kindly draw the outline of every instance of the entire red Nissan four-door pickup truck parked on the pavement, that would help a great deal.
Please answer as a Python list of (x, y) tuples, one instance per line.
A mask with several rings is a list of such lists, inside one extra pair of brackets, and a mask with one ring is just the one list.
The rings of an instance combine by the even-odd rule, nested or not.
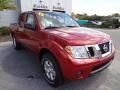
[(30, 11), (10, 26), (16, 50), (25, 47), (39, 57), (45, 80), (53, 87), (107, 68), (115, 48), (108, 34), (80, 27), (61, 12)]

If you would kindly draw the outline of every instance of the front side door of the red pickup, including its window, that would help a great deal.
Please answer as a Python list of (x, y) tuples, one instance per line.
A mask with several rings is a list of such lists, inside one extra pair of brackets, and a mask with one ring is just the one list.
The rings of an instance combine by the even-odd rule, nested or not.
[[(26, 26), (27, 25), (27, 26)], [(37, 54), (39, 52), (39, 34), (38, 28), (36, 25), (35, 15), (29, 13), (27, 15), (26, 23), (25, 23), (25, 35), (26, 35), (26, 45), (29, 49)]]

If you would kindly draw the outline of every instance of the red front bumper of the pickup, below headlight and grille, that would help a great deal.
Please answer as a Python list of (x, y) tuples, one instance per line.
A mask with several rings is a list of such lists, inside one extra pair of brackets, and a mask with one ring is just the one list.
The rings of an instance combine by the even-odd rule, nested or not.
[[(73, 60), (70, 62), (62, 63), (63, 76), (69, 80), (85, 79), (91, 74), (95, 74), (107, 68), (113, 61), (115, 56), (115, 49), (106, 57), (86, 59), (86, 60)], [(70, 60), (65, 60), (70, 61)]]

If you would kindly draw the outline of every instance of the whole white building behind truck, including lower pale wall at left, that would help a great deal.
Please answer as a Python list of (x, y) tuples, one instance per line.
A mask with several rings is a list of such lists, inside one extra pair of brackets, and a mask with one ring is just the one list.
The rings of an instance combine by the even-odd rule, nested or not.
[(21, 12), (32, 10), (61, 11), (71, 14), (72, 0), (15, 0), (16, 10), (0, 11), (0, 27), (16, 23)]

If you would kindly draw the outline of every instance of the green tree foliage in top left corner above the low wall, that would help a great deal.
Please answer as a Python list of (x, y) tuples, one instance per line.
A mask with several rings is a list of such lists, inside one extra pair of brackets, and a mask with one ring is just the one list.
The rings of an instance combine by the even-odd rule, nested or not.
[(0, 0), (0, 11), (4, 9), (15, 9), (13, 0)]

